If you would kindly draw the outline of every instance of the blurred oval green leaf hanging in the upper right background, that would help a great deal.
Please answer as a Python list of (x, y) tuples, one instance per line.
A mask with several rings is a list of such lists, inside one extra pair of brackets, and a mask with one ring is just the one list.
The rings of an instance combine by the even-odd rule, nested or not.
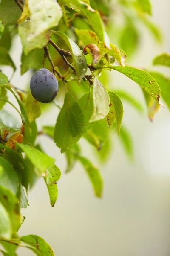
[(124, 49), (128, 57), (135, 54), (139, 43), (139, 33), (132, 22), (126, 21), (119, 40), (120, 47)]

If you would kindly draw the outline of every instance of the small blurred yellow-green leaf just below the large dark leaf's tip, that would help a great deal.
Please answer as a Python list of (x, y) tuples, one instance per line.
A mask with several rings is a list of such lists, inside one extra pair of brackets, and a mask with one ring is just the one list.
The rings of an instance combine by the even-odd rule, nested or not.
[(65, 156), (67, 159), (67, 168), (65, 170), (66, 173), (70, 172), (71, 169), (74, 168), (74, 165), (77, 161), (77, 155), (80, 153), (80, 148), (78, 144), (74, 144), (69, 148), (67, 151), (65, 151)]

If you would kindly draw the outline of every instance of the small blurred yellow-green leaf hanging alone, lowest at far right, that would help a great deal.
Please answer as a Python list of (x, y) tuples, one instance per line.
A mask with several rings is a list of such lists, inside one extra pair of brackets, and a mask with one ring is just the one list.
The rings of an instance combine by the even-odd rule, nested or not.
[(132, 143), (132, 138), (130, 136), (129, 131), (127, 131), (127, 128), (124, 126), (121, 127), (120, 129), (120, 140), (122, 142), (122, 145), (127, 153), (127, 156), (130, 158), (133, 158), (133, 143)]

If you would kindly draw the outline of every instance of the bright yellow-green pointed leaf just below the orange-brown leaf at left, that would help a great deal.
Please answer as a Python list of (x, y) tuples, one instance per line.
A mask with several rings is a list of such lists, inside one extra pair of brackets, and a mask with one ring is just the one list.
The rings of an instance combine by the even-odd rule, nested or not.
[(40, 175), (44, 173), (49, 166), (52, 166), (54, 164), (54, 159), (52, 157), (49, 157), (45, 153), (37, 150), (36, 148), (33, 148), (30, 145), (23, 145), (19, 143), (16, 144), (19, 148), (22, 149), (24, 153), (26, 153), (26, 156), (31, 161), (31, 163), (33, 163), (33, 165), (38, 169)]

